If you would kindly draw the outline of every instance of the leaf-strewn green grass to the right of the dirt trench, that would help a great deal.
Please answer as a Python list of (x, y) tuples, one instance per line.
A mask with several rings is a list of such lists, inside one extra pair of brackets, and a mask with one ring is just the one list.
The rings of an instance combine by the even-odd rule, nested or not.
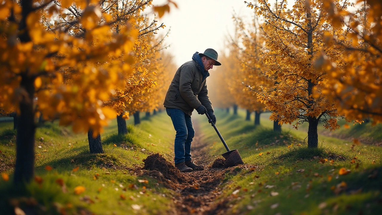
[[(237, 116), (224, 111), (216, 115), (228, 147), (238, 149), (244, 163), (255, 167), (226, 174), (220, 199), (230, 199), (227, 214), (375, 214), (382, 209), (381, 147), (352, 146), (319, 135), (319, 147), (310, 149), (304, 129), (283, 125), (281, 134), (273, 132), (269, 114), (262, 114), (257, 127), (244, 121), (244, 111)], [(209, 154), (219, 157), (225, 152), (219, 137), (204, 118), (197, 119), (205, 132), (203, 141), (213, 143)], [(328, 162), (319, 163), (321, 159)], [(340, 168), (351, 172), (340, 175)], [(340, 187), (341, 182), (346, 187)]]

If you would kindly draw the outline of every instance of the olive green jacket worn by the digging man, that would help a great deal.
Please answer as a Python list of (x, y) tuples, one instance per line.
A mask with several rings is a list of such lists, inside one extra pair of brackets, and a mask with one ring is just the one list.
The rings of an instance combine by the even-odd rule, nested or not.
[(198, 67), (200, 68), (199, 64), (191, 60), (178, 68), (163, 103), (165, 108), (180, 109), (190, 116), (201, 104), (207, 111), (214, 110), (207, 95), (206, 78), (209, 73), (203, 80), (203, 74)]

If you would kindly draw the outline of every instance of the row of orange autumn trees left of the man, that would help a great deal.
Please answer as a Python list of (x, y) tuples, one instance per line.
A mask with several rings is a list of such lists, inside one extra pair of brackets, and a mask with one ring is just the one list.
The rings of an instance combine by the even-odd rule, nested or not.
[[(154, 11), (163, 15), (168, 4)], [(151, 6), (152, 0), (2, 1), (0, 108), (17, 114), (16, 184), (33, 177), (41, 115), (88, 132), (91, 152), (102, 152), (92, 140), (108, 120), (160, 104), (171, 56), (155, 36), (165, 26), (143, 13)]]

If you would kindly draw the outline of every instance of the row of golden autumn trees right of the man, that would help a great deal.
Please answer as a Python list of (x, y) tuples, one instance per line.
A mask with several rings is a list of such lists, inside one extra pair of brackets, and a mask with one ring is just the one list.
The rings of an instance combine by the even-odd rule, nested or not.
[(296, 129), (309, 123), (308, 147), (318, 145), (319, 123), (333, 130), (344, 117), (381, 121), (379, 1), (246, 4), (255, 21), (235, 18), (226, 68), (217, 72), (236, 104), (250, 111), (268, 109), (271, 120)]

